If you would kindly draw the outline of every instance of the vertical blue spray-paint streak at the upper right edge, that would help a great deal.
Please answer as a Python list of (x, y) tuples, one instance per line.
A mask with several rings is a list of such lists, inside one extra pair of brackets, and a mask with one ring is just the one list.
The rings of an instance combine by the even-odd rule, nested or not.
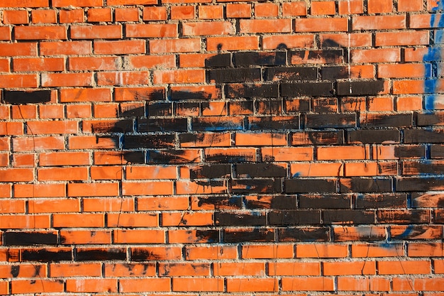
[[(438, 6), (434, 7), (433, 12), (444, 9), (444, 1), (438, 1)], [(437, 13), (431, 14), (430, 28), (444, 28), (444, 14), (438, 15)], [(424, 108), (426, 110), (435, 109), (436, 93), (438, 89), (437, 80), (437, 65), (436, 61), (441, 60), (443, 53), (441, 48), (434, 46), (443, 43), (444, 31), (436, 31), (433, 43), (428, 47), (428, 52), (423, 57), (423, 62), (426, 63), (426, 80), (424, 81), (424, 92), (427, 94), (425, 97)]]

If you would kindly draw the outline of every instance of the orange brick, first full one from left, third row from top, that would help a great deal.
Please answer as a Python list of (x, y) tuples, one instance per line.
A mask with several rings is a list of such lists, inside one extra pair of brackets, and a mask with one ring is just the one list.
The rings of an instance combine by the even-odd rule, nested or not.
[(53, 40), (67, 39), (67, 28), (65, 26), (33, 26), (14, 29), (17, 40)]

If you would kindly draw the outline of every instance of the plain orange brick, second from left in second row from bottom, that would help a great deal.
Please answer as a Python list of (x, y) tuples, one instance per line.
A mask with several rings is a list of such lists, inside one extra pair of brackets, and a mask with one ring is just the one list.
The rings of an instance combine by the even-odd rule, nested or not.
[(50, 263), (51, 278), (101, 276), (100, 263)]

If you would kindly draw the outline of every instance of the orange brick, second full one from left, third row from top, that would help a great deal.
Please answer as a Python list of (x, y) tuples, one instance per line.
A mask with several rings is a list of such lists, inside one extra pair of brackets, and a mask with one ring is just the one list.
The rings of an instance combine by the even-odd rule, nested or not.
[(71, 26), (72, 39), (120, 39), (121, 25)]

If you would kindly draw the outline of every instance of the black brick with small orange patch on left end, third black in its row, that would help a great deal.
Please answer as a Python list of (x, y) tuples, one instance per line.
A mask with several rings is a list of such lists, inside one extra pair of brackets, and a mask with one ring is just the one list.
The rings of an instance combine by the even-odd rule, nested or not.
[(340, 192), (392, 192), (392, 179), (344, 178), (340, 180)]

